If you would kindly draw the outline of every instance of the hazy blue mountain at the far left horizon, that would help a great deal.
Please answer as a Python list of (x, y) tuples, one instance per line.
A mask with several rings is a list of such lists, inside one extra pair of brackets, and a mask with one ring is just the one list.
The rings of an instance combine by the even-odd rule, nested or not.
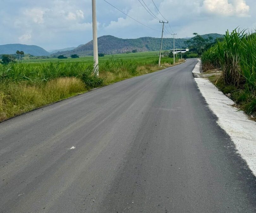
[(0, 45), (0, 54), (16, 54), (16, 51), (23, 51), (25, 54), (30, 54), (33, 56), (49, 56), (50, 53), (47, 52), (42, 47), (36, 45), (26, 45), (26, 44), (4, 44)]

